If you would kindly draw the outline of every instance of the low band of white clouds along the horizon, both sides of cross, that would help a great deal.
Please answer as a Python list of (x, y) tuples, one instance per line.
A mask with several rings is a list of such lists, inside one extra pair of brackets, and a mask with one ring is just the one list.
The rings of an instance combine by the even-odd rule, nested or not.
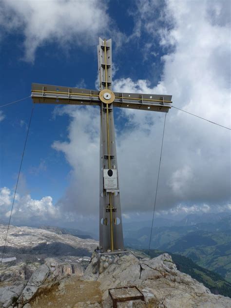
[[(14, 192), (7, 187), (0, 188), (0, 223), (8, 223), (11, 207), (13, 202)], [(77, 204), (77, 203), (76, 203)], [(81, 209), (74, 209), (53, 205), (51, 196), (46, 196), (38, 199), (32, 199), (30, 194), (20, 195), (16, 194), (15, 204), (12, 211), (11, 224), (14, 225), (30, 225), (30, 226), (41, 226), (44, 224), (53, 226), (71, 226), (79, 229), (94, 229), (97, 227), (97, 220), (94, 219), (93, 215), (89, 214), (86, 220), (86, 216), (79, 213)], [(90, 212), (91, 207), (87, 208)], [(200, 205), (183, 205), (178, 204), (177, 206), (160, 210), (156, 212), (156, 215), (188, 215), (192, 213), (210, 213), (210, 212), (231, 212), (231, 204), (218, 205), (213, 208), (211, 205), (206, 203)], [(147, 220), (145, 213), (141, 220)], [(131, 221), (136, 219), (135, 216), (140, 216), (140, 212), (131, 212), (131, 214), (123, 213), (123, 219)], [(88, 227), (86, 227), (86, 221), (88, 221)], [(77, 223), (77, 225), (76, 225)], [(89, 226), (89, 223), (91, 224)], [(89, 231), (89, 230), (88, 230)]]

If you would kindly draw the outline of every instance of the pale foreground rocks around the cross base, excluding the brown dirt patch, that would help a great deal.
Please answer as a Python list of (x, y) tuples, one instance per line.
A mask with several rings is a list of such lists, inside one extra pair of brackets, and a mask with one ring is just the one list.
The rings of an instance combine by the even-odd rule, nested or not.
[[(106, 263), (106, 259), (102, 261), (103, 264)], [(133, 254), (116, 257), (111, 264), (103, 267), (101, 273), (94, 273), (95, 266), (96, 260), (92, 258), (84, 273), (83, 267), (79, 264), (73, 268), (68, 264), (60, 265), (56, 260), (49, 258), (24, 284), (0, 288), (0, 307), (30, 308), (29, 305), (36, 302), (37, 296), (42, 296), (41, 294), (61, 283), (60, 287), (63, 283), (62, 278), (70, 274), (82, 276), (81, 279), (86, 281), (84, 283), (97, 280), (102, 291), (102, 302), (92, 303), (86, 298), (85, 302), (76, 302), (74, 307), (112, 308), (109, 289), (134, 286), (143, 294), (144, 300), (118, 302), (117, 308), (231, 307), (231, 298), (212, 294), (203, 284), (178, 271), (167, 253), (153, 259), (139, 260)], [(79, 286), (81, 287), (81, 284)], [(60, 292), (62, 288), (59, 289)]]

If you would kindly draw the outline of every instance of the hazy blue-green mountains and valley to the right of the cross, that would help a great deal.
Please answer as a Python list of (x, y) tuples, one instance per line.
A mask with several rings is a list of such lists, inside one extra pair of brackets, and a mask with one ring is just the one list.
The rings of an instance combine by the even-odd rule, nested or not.
[[(231, 282), (231, 215), (191, 214), (181, 221), (154, 220), (151, 248), (182, 254)], [(149, 222), (150, 225), (150, 222)], [(151, 227), (147, 223), (124, 227), (125, 245), (147, 249)], [(148, 226), (148, 227), (147, 227)]]

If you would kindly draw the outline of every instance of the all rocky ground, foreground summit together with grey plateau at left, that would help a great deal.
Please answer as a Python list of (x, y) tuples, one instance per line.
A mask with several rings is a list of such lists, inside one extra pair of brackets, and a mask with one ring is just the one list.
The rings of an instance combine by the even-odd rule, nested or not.
[[(62, 245), (68, 249), (59, 251)], [(231, 298), (212, 294), (177, 270), (167, 253), (137, 258), (128, 251), (100, 258), (96, 246), (72, 235), (11, 227), (0, 269), (0, 308), (231, 307)]]

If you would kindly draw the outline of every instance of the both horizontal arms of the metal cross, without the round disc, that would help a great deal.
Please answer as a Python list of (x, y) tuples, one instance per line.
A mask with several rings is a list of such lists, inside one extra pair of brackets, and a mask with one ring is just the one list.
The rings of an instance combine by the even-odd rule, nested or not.
[[(100, 91), (32, 83), (32, 99), (40, 104), (99, 105)], [(171, 95), (114, 93), (114, 107), (168, 112)]]

